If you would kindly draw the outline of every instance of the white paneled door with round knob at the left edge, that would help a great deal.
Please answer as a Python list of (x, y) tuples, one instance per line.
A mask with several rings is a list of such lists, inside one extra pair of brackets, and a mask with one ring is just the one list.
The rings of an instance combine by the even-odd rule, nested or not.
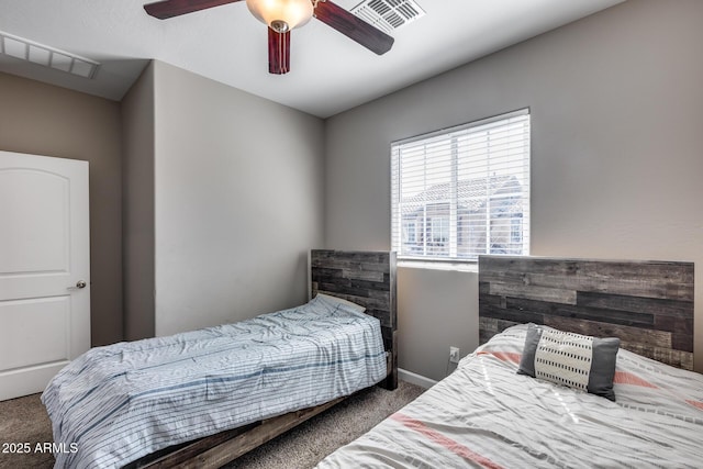
[(88, 161), (0, 150), (0, 400), (90, 347)]

